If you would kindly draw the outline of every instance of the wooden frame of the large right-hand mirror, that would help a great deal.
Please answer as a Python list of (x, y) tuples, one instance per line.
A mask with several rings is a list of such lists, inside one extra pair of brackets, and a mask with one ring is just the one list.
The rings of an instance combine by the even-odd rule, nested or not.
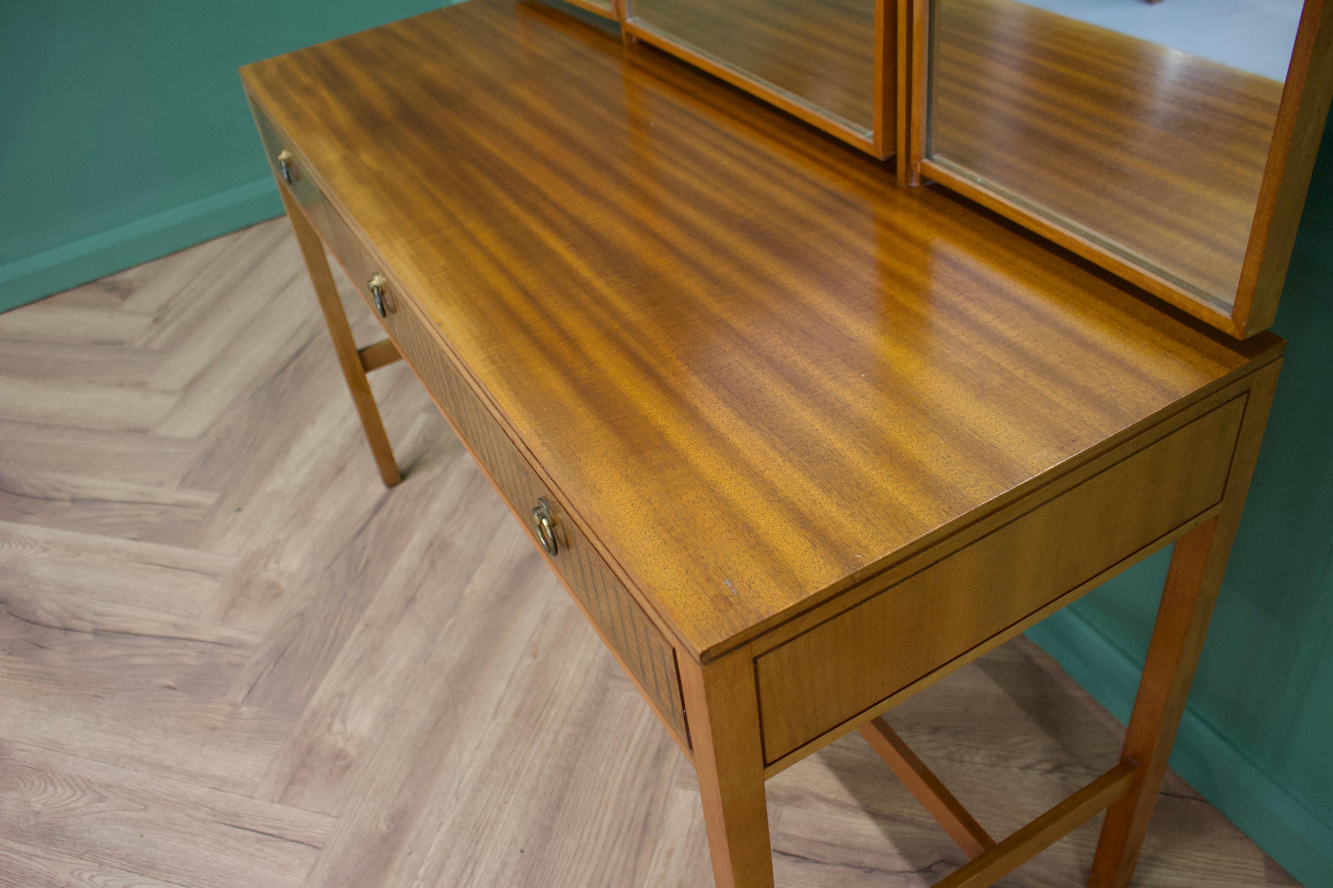
[(1005, 194), (964, 178), (926, 156), (930, 21), (937, 0), (898, 0), (898, 67), (906, 100), (898, 120), (898, 180), (918, 185), (924, 178), (950, 188), (1101, 268), (1141, 286), (1176, 308), (1233, 337), (1245, 338), (1266, 329), (1277, 314), (1286, 266), (1296, 244), (1314, 154), (1324, 134), (1333, 96), (1333, 15), (1325, 0), (1305, 0), (1290, 69), (1282, 88), (1273, 141), (1260, 185), (1249, 245), (1230, 313), (1185, 288), (1136, 265), (1100, 244), (1062, 228), (1016, 204)]

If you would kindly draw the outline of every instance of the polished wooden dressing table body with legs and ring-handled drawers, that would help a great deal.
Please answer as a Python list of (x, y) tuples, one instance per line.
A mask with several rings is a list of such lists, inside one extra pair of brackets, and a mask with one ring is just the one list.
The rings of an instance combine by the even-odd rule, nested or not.
[[(694, 764), (717, 885), (773, 885), (765, 779), (853, 730), (972, 857), (940, 884), (1101, 811), (1092, 884), (1128, 884), (1282, 341), (904, 186), (913, 4), (866, 7), (896, 55), (850, 136), (580, 5), (608, 24), (469, 0), (241, 71), (384, 482), (401, 358)], [(992, 839), (881, 716), (1170, 545), (1121, 759)]]

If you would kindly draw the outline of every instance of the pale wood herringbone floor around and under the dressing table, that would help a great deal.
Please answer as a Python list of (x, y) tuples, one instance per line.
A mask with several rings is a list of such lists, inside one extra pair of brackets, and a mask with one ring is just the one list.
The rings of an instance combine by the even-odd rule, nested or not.
[[(392, 493), (284, 220), (0, 316), (0, 885), (712, 884), (692, 768), (411, 371), (372, 381)], [(889, 715), (997, 836), (1122, 736), (1022, 640)], [(854, 734), (768, 788), (784, 888), (962, 861)], [(1002, 884), (1081, 884), (1098, 823)], [(1137, 884), (1296, 883), (1169, 777)]]

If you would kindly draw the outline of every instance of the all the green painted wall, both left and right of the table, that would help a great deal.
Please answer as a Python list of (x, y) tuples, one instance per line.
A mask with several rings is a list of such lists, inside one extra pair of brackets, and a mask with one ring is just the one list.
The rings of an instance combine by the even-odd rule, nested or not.
[[(449, 0), (0, 3), (0, 310), (281, 212), (236, 68)], [(1333, 888), (1333, 138), (1268, 441), (1172, 764)], [(1125, 719), (1169, 553), (1029, 635)]]

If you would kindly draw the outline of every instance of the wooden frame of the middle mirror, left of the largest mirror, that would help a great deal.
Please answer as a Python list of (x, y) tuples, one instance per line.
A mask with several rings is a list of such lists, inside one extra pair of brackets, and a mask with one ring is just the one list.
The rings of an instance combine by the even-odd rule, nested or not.
[[(587, 3), (587, 0), (584, 1)], [(786, 91), (778, 89), (740, 68), (728, 65), (725, 60), (701, 53), (678, 37), (655, 28), (635, 15), (635, 0), (613, 0), (613, 3), (627, 43), (643, 40), (652, 44), (880, 160), (888, 160), (897, 149), (897, 108), (902, 93), (900, 87), (904, 81), (900, 76), (901, 65), (894, 64), (894, 51), (900, 43), (898, 25), (905, 23), (905, 17), (900, 15), (898, 9), (902, 0), (874, 0), (874, 96), (872, 100), (874, 125), (869, 137), (858, 128), (848, 126), (841, 120), (821, 114), (817, 108), (800, 101)]]

